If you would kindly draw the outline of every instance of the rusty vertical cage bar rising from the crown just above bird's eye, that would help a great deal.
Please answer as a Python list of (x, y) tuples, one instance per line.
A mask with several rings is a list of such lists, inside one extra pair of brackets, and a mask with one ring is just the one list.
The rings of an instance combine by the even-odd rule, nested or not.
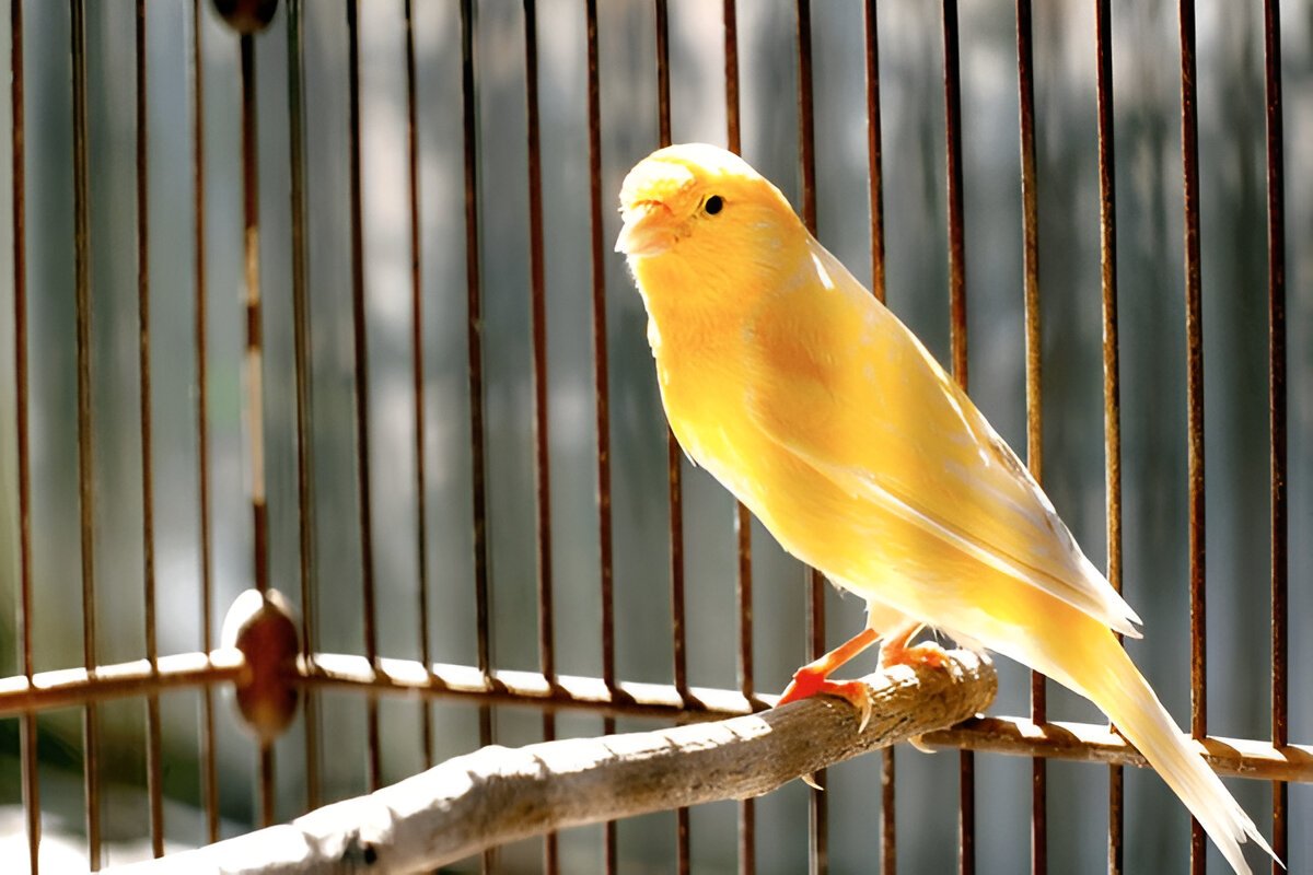
[[(725, 0), (725, 135), (731, 152), (742, 151), (739, 132), (738, 7)], [(735, 589), (738, 601), (739, 690), (750, 702), (752, 685), (752, 514), (742, 501), (734, 502), (734, 546), (738, 555)], [(738, 805), (739, 875), (756, 872), (756, 809), (751, 799)]]

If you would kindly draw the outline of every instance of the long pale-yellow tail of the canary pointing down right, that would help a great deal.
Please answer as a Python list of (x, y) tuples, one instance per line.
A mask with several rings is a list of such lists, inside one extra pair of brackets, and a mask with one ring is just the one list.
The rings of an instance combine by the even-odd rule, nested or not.
[(1237, 875), (1250, 875), (1241, 850), (1247, 840), (1254, 840), (1254, 844), (1276, 859), (1276, 854), (1221, 778), (1187, 745), (1171, 715), (1162, 707), (1149, 682), (1112, 632), (1100, 626), (1094, 635), (1094, 640), (1086, 641), (1092, 645), (1088, 649), (1094, 651), (1087, 657), (1094, 659), (1075, 662), (1062, 660), (1062, 668), (1066, 669), (1062, 673), (1067, 677), (1053, 677), (1074, 686), (1103, 708), (1117, 731), (1186, 803)]

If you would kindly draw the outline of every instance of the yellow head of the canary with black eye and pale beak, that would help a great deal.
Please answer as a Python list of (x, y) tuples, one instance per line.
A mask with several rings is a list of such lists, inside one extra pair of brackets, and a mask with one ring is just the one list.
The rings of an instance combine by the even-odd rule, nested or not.
[(738, 155), (705, 143), (658, 150), (620, 188), (616, 252), (704, 261), (779, 248), (801, 222), (780, 190)]

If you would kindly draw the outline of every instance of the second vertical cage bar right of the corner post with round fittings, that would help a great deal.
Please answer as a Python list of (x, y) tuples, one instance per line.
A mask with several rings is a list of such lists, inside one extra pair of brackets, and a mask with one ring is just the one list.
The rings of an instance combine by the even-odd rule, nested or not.
[[(369, 475), (369, 327), (365, 314), (365, 219), (360, 178), (360, 0), (347, 0), (347, 93), (351, 173), (351, 327), (356, 386), (356, 496), (360, 514), (360, 589), (365, 622), (365, 656), (378, 659), (374, 600), (374, 526)], [(383, 786), (378, 702), (366, 704), (369, 788)]]

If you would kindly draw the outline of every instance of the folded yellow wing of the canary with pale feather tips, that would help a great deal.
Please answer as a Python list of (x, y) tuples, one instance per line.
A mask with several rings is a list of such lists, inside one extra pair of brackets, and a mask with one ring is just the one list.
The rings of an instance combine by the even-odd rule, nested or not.
[(838, 487), (1138, 638), (1039, 484), (916, 337), (819, 243), (744, 336), (754, 425)]

